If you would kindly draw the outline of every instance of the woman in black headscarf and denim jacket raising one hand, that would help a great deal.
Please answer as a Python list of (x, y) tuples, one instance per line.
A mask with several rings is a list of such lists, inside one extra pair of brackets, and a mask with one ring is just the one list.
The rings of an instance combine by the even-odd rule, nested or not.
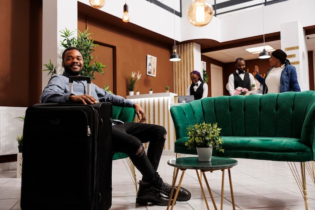
[(269, 58), (271, 68), (268, 69), (265, 78), (261, 77), (259, 68), (255, 65), (255, 78), (263, 85), (263, 94), (301, 91), (297, 82), (296, 69), (290, 65), (286, 57), (287, 54), (281, 49), (273, 51)]

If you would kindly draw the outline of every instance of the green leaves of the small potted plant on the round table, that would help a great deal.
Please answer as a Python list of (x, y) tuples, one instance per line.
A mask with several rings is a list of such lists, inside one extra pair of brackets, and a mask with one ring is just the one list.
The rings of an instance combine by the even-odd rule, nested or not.
[(223, 140), (220, 134), (221, 128), (217, 126), (217, 123), (200, 123), (195, 125), (189, 125), (187, 127), (188, 142), (185, 143), (189, 149), (196, 147), (210, 147), (224, 152), (222, 149)]

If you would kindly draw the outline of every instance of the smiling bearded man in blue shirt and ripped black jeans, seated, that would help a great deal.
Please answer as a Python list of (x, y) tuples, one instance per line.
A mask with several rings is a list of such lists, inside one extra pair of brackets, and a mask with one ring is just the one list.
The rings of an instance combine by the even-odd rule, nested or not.
[[(113, 120), (112, 139), (113, 151), (127, 153), (135, 167), (142, 174), (139, 181), (139, 190), (136, 203), (138, 205), (167, 205), (172, 186), (162, 180), (157, 167), (159, 166), (164, 143), (166, 129), (155, 124), (142, 123), (146, 120), (142, 107), (132, 101), (106, 92), (91, 83), (91, 95), (87, 94), (87, 81), (73, 81), (73, 91), (69, 91), (69, 76), (80, 76), (83, 69), (83, 56), (75, 47), (68, 47), (62, 53), (62, 75), (53, 76), (45, 87), (40, 101), (42, 103), (56, 102), (81, 102), (94, 104), (98, 102), (110, 102), (115, 106), (127, 106), (135, 109), (139, 123), (117, 122)], [(147, 155), (143, 143), (148, 143)], [(104, 166), (105, 167), (105, 166)], [(181, 187), (177, 201), (189, 200), (191, 194)]]

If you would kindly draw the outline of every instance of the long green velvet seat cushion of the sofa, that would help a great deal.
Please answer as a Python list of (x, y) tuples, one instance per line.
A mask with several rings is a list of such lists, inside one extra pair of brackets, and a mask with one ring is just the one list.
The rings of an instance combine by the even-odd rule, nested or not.
[[(312, 151), (298, 138), (222, 136), (224, 153), (213, 151), (213, 156), (262, 160), (303, 161), (312, 159)], [(175, 152), (197, 155), (196, 149), (185, 146), (188, 137), (175, 142)]]

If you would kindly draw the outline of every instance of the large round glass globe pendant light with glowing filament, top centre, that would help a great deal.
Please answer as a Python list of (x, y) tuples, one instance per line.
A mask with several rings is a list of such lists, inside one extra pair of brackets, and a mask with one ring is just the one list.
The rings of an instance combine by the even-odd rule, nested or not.
[(213, 7), (205, 0), (195, 0), (187, 10), (187, 19), (193, 26), (205, 26), (212, 17)]

